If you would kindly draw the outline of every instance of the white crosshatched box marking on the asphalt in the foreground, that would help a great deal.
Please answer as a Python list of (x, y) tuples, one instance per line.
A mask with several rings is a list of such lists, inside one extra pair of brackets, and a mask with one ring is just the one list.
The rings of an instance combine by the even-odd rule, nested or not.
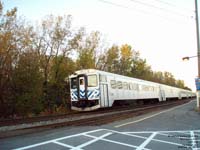
[[(123, 136), (125, 140), (122, 140), (122, 138), (120, 138), (121, 136)], [(77, 140), (77, 138), (83, 139), (83, 137), (89, 138), (90, 140), (84, 142), (80, 140), (78, 141), (80, 142), (78, 145), (69, 142)], [(200, 150), (200, 130), (119, 132), (115, 130), (98, 129), (28, 145), (17, 148), (16, 150), (37, 149), (38, 147), (42, 149), (43, 146), (48, 147), (48, 144), (48, 149), (51, 149), (50, 144), (56, 144), (71, 150), (87, 150), (88, 146), (93, 146), (93, 149), (101, 149), (102, 147), (95, 147), (95, 144), (98, 142), (104, 142), (105, 144), (102, 145), (103, 147), (106, 147), (106, 144), (113, 144), (116, 150), (120, 148), (119, 146), (123, 146), (123, 149), (132, 148), (136, 150), (150, 150), (156, 149), (157, 147), (162, 147), (163, 150), (166, 148), (167, 150), (172, 146), (173, 149), (177, 150)]]

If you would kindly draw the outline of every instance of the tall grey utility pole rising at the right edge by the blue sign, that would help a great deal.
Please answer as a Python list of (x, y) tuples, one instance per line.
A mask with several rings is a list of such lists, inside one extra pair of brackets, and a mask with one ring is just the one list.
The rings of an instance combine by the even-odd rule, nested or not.
[[(197, 58), (198, 58), (198, 78), (200, 79), (200, 41), (199, 41), (199, 15), (198, 15), (198, 0), (195, 0), (195, 13), (196, 13), (196, 33), (197, 33)], [(200, 90), (197, 89), (197, 109), (200, 104)]]

